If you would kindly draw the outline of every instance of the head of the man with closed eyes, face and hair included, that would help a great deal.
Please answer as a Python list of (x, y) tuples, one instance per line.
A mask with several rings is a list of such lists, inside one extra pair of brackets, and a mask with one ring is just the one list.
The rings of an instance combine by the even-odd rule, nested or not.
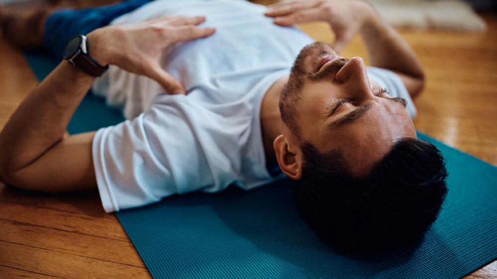
[(378, 250), (419, 238), (445, 198), (439, 151), (416, 139), (406, 100), (392, 98), (359, 57), (314, 43), (281, 93), (274, 141), (299, 210), (342, 250)]

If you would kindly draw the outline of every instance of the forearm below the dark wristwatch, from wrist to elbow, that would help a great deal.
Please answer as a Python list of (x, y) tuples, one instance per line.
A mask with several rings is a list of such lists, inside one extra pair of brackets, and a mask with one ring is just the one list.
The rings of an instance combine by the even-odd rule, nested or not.
[(56, 145), (94, 79), (67, 61), (59, 64), (1, 131), (1, 171), (23, 168)]

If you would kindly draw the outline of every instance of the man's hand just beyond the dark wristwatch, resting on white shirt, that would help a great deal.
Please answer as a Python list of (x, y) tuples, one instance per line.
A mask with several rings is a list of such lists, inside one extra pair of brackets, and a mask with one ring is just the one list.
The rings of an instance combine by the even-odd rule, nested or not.
[(177, 42), (207, 37), (214, 28), (201, 28), (204, 16), (168, 16), (150, 21), (107, 26), (89, 33), (90, 55), (102, 65), (148, 76), (169, 94), (186, 94), (183, 86), (168, 74), (159, 61), (164, 50)]

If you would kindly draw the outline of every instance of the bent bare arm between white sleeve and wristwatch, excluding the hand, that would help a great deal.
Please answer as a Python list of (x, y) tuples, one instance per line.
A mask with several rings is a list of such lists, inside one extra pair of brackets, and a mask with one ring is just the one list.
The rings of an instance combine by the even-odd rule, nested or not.
[[(0, 134), (0, 177), (26, 189), (94, 187), (94, 132), (63, 139), (67, 124), (94, 77), (62, 62), (34, 89)], [(35, 187), (35, 188), (32, 188)]]

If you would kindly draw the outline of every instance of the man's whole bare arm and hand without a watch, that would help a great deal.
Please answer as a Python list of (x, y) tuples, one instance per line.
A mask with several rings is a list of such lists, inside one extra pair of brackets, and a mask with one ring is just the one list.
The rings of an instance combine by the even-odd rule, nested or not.
[(328, 22), (336, 36), (333, 49), (337, 53), (360, 33), (372, 66), (396, 72), (413, 97), (423, 87), (423, 70), (414, 51), (368, 3), (355, 0), (285, 1), (269, 6), (266, 15), (274, 17), (274, 23), (282, 26)]

